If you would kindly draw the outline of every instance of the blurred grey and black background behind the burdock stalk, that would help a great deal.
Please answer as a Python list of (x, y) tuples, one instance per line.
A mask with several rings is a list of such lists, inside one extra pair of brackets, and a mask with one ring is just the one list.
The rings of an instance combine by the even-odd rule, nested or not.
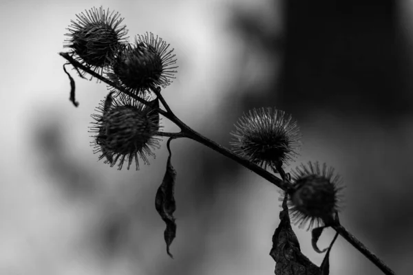
[[(97, 162), (90, 114), (104, 84), (62, 65), (64, 34), (93, 6), (175, 48), (163, 94), (179, 118), (229, 146), (243, 112), (277, 107), (303, 134), (301, 162), (347, 186), (341, 223), (396, 272), (413, 269), (412, 1), (7, 1), (0, 3), (0, 274), (274, 274), (275, 186), (189, 140), (174, 140), (178, 232), (165, 252), (154, 207), (166, 140), (139, 171)], [(165, 131), (176, 128), (162, 120)], [(319, 265), (310, 232), (295, 228)], [(333, 233), (321, 238), (328, 245)], [(410, 245), (409, 245), (410, 244)], [(330, 274), (381, 274), (339, 237)]]

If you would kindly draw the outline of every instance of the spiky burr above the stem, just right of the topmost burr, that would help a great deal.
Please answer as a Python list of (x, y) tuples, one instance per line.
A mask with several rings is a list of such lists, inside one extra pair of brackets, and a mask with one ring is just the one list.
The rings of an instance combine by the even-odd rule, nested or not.
[(150, 87), (167, 87), (175, 78), (175, 54), (158, 36), (136, 36), (134, 45), (119, 50), (108, 76), (134, 94), (145, 94)]

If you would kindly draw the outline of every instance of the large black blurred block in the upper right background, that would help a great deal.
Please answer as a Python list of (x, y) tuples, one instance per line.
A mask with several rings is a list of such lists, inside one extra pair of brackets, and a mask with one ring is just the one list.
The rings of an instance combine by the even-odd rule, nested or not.
[(279, 103), (378, 120), (412, 111), (396, 1), (285, 1)]

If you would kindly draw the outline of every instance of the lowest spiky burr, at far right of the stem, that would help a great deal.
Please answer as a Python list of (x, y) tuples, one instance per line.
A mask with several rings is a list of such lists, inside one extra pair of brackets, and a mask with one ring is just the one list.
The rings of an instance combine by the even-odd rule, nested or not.
[(309, 221), (309, 230), (333, 220), (343, 189), (341, 177), (334, 172), (326, 164), (320, 168), (318, 162), (301, 164), (292, 171), (295, 192), (288, 195), (288, 206), (295, 224), (303, 228)]

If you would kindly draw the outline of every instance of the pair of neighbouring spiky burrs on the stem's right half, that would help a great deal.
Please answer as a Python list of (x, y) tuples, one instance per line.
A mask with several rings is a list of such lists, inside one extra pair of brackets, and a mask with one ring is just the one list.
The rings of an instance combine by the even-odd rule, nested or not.
[(310, 229), (335, 219), (343, 185), (334, 168), (308, 162), (291, 174), (284, 173), (283, 166), (297, 157), (301, 145), (297, 121), (291, 115), (273, 108), (253, 109), (244, 113), (231, 135), (236, 153), (262, 168), (271, 168), (290, 184), (288, 192), (282, 194), (288, 195), (291, 217), (296, 224), (304, 227), (309, 222)]

